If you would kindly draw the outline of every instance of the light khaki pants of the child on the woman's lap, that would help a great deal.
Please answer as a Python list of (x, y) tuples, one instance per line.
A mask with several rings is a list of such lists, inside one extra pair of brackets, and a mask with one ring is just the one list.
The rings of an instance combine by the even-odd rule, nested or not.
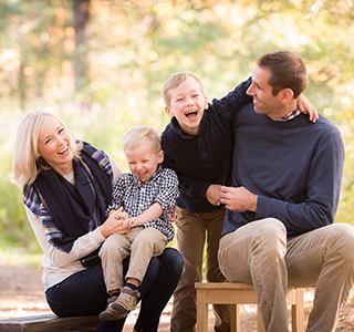
[(123, 287), (123, 260), (131, 256), (125, 279), (136, 278), (140, 282), (153, 256), (163, 253), (167, 237), (156, 228), (136, 227), (128, 232), (110, 236), (100, 250), (104, 281), (107, 292)]

